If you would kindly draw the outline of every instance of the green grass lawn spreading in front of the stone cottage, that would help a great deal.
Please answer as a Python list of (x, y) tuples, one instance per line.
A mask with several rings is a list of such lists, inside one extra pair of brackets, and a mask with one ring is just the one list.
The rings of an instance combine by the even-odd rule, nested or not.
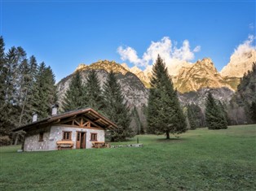
[[(136, 143), (131, 141), (115, 145)], [(256, 190), (256, 125), (139, 136), (142, 148), (0, 148), (0, 190)]]

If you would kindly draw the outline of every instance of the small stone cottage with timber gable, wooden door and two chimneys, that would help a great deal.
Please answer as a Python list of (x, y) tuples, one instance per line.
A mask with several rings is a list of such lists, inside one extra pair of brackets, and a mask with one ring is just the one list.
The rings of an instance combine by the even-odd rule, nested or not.
[(57, 115), (53, 109), (51, 117), (33, 122), (14, 132), (26, 132), (24, 151), (88, 149), (96, 143), (104, 144), (107, 130), (114, 130), (117, 125), (91, 108), (69, 111)]

